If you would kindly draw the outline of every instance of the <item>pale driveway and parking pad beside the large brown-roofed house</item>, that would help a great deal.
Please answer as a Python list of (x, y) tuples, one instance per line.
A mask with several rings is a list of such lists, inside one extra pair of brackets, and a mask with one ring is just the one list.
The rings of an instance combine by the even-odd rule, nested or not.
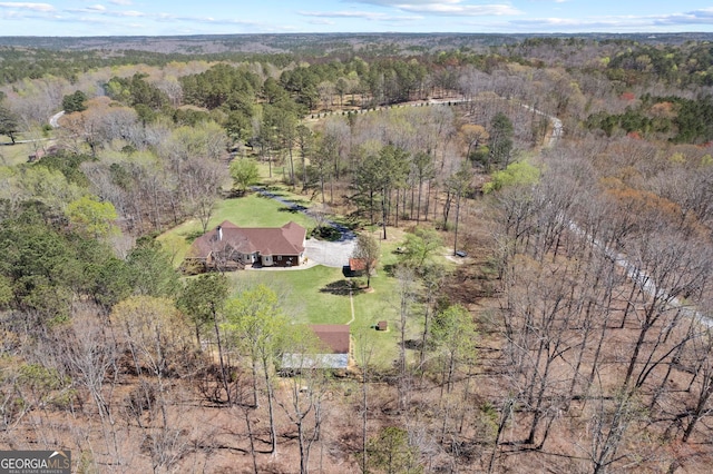
[[(282, 196), (270, 192), (265, 188), (253, 186), (252, 189), (255, 192), (260, 192), (262, 196), (268, 197), (287, 206), (290, 209), (306, 214), (306, 207), (295, 204), (290, 199), (285, 199)], [(354, 253), (354, 247), (356, 245), (356, 235), (346, 227), (331, 220), (328, 220), (326, 225), (332, 226), (336, 230), (339, 230), (341, 233), (341, 237), (336, 241), (318, 240), (315, 238), (310, 238), (305, 243), (304, 250), (307, 257), (307, 261), (334, 268), (341, 268), (344, 265), (349, 265), (349, 257), (351, 257)]]

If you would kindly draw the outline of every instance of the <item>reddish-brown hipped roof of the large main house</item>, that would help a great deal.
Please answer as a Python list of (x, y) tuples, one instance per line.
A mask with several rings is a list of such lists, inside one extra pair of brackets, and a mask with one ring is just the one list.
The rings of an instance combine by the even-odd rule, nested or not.
[(193, 243), (193, 257), (206, 257), (214, 250), (231, 247), (241, 254), (300, 255), (304, 251), (306, 230), (296, 223), (282, 227), (238, 227), (224, 220)]

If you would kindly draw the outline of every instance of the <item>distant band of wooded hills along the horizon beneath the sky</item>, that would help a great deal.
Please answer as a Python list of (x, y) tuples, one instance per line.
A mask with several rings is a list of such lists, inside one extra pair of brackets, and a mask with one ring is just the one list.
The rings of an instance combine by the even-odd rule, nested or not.
[[(579, 34), (238, 34), (199, 37), (25, 38), (0, 37), (0, 85), (47, 76), (70, 81), (100, 67), (203, 60), (291, 63), (368, 62), (400, 58), (427, 68), (512, 61), (569, 66), (561, 58), (589, 51), (597, 68), (626, 86), (663, 81), (713, 85), (713, 52), (704, 33)], [(544, 58), (543, 50), (553, 58)], [(615, 51), (611, 56), (602, 56)], [(554, 59), (556, 58), (556, 59)], [(592, 68), (592, 65), (578, 65)]]

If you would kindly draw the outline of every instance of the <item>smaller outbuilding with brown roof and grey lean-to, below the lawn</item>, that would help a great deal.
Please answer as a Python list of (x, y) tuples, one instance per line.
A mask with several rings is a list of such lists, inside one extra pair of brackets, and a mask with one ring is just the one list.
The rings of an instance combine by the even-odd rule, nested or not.
[(346, 371), (352, 357), (352, 338), (346, 324), (313, 324), (310, 329), (322, 346), (322, 353), (305, 356), (304, 354), (284, 354), (282, 373), (290, 374), (304, 368), (330, 368)]

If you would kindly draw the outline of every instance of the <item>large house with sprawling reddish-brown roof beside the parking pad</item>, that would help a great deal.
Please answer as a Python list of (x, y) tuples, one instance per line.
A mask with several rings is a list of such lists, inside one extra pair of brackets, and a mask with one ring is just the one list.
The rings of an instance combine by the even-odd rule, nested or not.
[(296, 223), (282, 227), (240, 227), (224, 220), (191, 246), (186, 260), (204, 269), (294, 267), (304, 263), (306, 229)]

